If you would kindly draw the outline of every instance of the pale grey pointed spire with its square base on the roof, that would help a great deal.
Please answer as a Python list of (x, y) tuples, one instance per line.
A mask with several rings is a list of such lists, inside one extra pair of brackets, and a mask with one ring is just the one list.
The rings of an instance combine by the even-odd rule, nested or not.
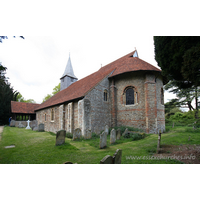
[(62, 75), (60, 80), (61, 80), (60, 90), (64, 90), (65, 88), (69, 87), (72, 83), (78, 80), (77, 77), (74, 75), (70, 56), (69, 56), (64, 74)]

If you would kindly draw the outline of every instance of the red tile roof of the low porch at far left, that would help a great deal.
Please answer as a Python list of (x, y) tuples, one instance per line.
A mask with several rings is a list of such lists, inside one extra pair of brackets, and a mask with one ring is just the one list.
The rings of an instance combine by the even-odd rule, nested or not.
[(36, 103), (24, 103), (18, 101), (11, 101), (11, 112), (12, 113), (24, 113), (24, 114), (35, 114), (35, 109), (40, 104)]

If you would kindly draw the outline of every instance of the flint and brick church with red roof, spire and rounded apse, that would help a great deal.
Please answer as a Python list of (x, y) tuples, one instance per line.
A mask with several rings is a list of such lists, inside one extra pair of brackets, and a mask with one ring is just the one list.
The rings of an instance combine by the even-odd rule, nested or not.
[(61, 91), (36, 109), (45, 131), (80, 128), (86, 136), (104, 127), (131, 126), (146, 133), (165, 129), (164, 77), (138, 57), (137, 50), (78, 80), (69, 57)]

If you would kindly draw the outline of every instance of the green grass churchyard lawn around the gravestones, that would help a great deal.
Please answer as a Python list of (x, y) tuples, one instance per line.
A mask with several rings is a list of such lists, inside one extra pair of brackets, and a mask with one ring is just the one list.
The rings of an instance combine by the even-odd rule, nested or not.
[[(186, 127), (167, 128), (162, 134), (161, 145), (200, 145), (200, 130)], [(190, 140), (188, 138), (190, 137)], [(4, 127), (0, 141), (1, 164), (62, 164), (71, 161), (78, 164), (99, 164), (106, 155), (113, 155), (122, 149), (122, 164), (179, 164), (172, 159), (149, 159), (156, 153), (158, 135), (149, 134), (142, 140), (120, 139), (110, 145), (109, 135), (107, 147), (99, 149), (99, 138), (72, 141), (65, 139), (65, 144), (55, 146), (56, 135), (50, 132), (35, 132), (24, 128)], [(5, 146), (15, 145), (15, 148)], [(135, 159), (132, 159), (135, 156)], [(140, 159), (136, 159), (136, 156)]]

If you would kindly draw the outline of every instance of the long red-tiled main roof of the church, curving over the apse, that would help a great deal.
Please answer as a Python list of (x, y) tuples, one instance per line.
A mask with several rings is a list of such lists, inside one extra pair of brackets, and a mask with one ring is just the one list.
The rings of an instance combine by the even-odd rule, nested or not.
[[(40, 104), (35, 111), (72, 101), (74, 99), (83, 98), (101, 80), (109, 75), (109, 77), (113, 77), (125, 72), (140, 70), (161, 71), (138, 57), (133, 57), (134, 53), (135, 51), (104, 67), (101, 67), (97, 72), (76, 81), (66, 89), (58, 92), (53, 97)], [(113, 73), (111, 74), (111, 72)]]

